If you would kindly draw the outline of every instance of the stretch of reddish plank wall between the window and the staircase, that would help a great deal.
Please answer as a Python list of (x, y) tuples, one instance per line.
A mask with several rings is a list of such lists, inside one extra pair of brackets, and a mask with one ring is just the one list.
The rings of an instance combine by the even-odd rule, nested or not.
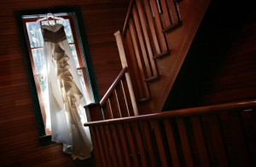
[(121, 70), (113, 33), (124, 25), (127, 7), (128, 3), (122, 2), (116, 3), (113, 7), (108, 4), (83, 6), (85, 28), (90, 43), (90, 52), (93, 54), (92, 60), (101, 97)]

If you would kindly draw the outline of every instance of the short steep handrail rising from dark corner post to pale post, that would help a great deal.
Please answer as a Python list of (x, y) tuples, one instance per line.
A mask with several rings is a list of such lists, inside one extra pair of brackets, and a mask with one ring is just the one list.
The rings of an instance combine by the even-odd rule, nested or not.
[(103, 104), (105, 104), (106, 101), (108, 101), (109, 96), (113, 93), (113, 90), (115, 89), (115, 87), (119, 84), (121, 78), (124, 77), (125, 72), (127, 72), (127, 66), (125, 66), (125, 68), (123, 68), (123, 70), (121, 72), (119, 72), (119, 75), (117, 78), (115, 78), (115, 80), (113, 81), (112, 85), (110, 86), (110, 88), (108, 89), (107, 93), (102, 97), (102, 100), (100, 101), (100, 105), (102, 106)]

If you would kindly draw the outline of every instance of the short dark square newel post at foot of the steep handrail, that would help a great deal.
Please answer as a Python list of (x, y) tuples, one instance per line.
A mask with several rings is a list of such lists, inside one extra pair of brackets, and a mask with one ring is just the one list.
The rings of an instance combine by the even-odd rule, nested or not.
[(87, 121), (99, 121), (102, 120), (102, 107), (100, 103), (90, 103), (89, 105), (84, 106)]

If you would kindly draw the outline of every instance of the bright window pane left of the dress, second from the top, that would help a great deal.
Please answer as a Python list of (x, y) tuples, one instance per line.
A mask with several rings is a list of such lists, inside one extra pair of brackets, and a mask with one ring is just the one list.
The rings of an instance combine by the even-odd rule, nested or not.
[(44, 49), (32, 49), (32, 56), (36, 68), (36, 73), (42, 73), (44, 70)]

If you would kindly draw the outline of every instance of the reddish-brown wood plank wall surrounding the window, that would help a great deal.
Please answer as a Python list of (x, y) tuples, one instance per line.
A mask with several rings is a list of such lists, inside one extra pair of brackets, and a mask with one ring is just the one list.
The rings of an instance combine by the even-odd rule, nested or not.
[[(39, 146), (15, 10), (80, 6), (97, 84), (102, 96), (121, 70), (113, 33), (125, 22), (129, 0), (1, 0), (0, 6), (0, 164), (79, 166), (59, 144)], [(64, 8), (64, 7), (63, 7)]]

